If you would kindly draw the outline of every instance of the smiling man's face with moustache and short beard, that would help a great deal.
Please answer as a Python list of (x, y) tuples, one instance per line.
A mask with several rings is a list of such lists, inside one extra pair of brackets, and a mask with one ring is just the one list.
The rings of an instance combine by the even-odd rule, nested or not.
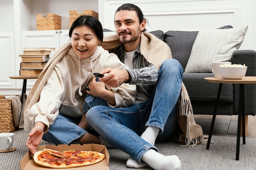
[(115, 29), (119, 41), (123, 44), (140, 40), (141, 31), (144, 25), (139, 23), (135, 11), (122, 10), (115, 14)]

